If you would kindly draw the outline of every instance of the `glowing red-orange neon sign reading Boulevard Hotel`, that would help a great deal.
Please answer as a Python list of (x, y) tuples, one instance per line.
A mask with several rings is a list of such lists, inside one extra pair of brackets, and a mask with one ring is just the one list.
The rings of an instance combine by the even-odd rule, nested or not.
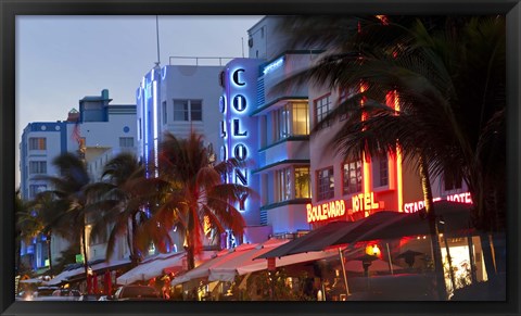
[(374, 192), (367, 192), (353, 195), (351, 198), (353, 208), (346, 210), (344, 200), (336, 200), (313, 205), (306, 204), (307, 223), (316, 223), (327, 219), (341, 218), (348, 215), (365, 212), (365, 216), (369, 215), (370, 211), (380, 210), (384, 207), (383, 201), (374, 201)]

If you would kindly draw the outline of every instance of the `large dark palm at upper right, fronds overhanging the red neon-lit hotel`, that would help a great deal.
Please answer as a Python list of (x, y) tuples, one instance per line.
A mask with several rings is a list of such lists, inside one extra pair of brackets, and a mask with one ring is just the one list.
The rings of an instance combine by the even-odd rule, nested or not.
[[(331, 89), (363, 85), (364, 89), (339, 104), (314, 131), (328, 119), (348, 115), (332, 138), (333, 148), (345, 156), (357, 157), (399, 150), (404, 161), (420, 172), (431, 224), (435, 224), (435, 213), (429, 177), (448, 172), (469, 185), (474, 227), (503, 231), (504, 222), (499, 219), (505, 208), (486, 207), (484, 189), (485, 184), (499, 191), (504, 188), (504, 178), (492, 177), (505, 165), (504, 152), (494, 157), (488, 172), (486, 163), (493, 152), (484, 149), (505, 149), (500, 138), (505, 109), (504, 18), (447, 18), (440, 23), (435, 18), (411, 22), (401, 17), (396, 24), (391, 23), (392, 18), (382, 20), (355, 18), (351, 28), (345, 28), (346, 35), (326, 39), (334, 48), (330, 54), (281, 87), (308, 79)], [(290, 25), (295, 25), (294, 21)], [(329, 26), (338, 28), (336, 24)], [(304, 31), (309, 42), (323, 42), (322, 37), (314, 37), (313, 29)], [(399, 109), (386, 104), (390, 92), (399, 99)], [(487, 198), (499, 206), (495, 197), (497, 190), (492, 190)], [(434, 235), (435, 226), (431, 228)], [(490, 276), (491, 266), (487, 264)]]

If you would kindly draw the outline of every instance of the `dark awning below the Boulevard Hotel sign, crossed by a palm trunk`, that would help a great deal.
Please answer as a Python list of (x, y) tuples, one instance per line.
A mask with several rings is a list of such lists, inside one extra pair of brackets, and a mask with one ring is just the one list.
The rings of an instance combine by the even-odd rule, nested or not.
[[(471, 205), (439, 201), (434, 203), (434, 207), (437, 220), (444, 223), (439, 226), (441, 232), (458, 235), (468, 231)], [(381, 211), (356, 222), (332, 222), (258, 257), (281, 257), (358, 241), (429, 235), (429, 222), (424, 216), (420, 216), (423, 212), (424, 208), (418, 213)]]

